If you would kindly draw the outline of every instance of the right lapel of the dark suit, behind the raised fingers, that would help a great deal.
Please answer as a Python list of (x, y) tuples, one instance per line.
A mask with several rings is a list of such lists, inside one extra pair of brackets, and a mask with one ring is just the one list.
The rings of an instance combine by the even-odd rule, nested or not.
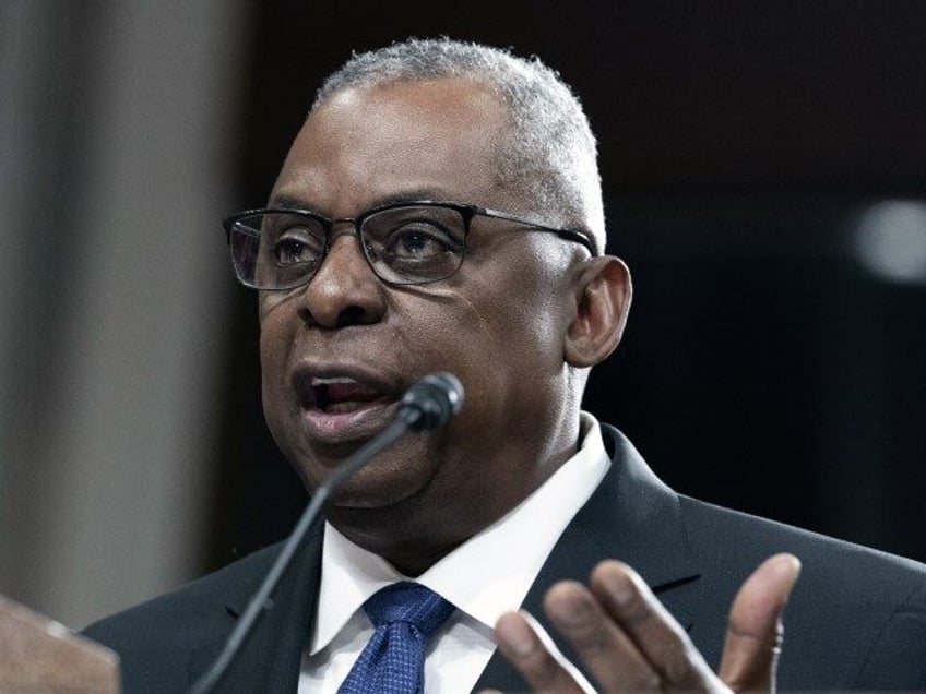
[[(613, 454), (610, 468), (567, 526), (522, 605), (555, 638), (563, 656), (583, 671), (569, 645), (556, 638), (556, 631), (544, 614), (543, 597), (554, 583), (563, 578), (586, 583), (599, 561), (618, 559), (632, 566), (675, 619), (690, 631), (699, 575), (676, 493), (650, 470), (617, 429), (602, 424), (602, 434)], [(590, 677), (587, 672), (585, 675)], [(483, 687), (527, 689), (498, 651), (475, 689)]]

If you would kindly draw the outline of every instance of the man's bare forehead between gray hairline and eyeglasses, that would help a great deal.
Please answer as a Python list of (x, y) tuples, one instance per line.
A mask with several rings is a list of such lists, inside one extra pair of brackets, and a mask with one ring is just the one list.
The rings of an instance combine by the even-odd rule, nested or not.
[(507, 122), (495, 93), (468, 80), (344, 89), (308, 118), (273, 194), (336, 216), (406, 193), (503, 204), (512, 195), (499, 186), (495, 153)]

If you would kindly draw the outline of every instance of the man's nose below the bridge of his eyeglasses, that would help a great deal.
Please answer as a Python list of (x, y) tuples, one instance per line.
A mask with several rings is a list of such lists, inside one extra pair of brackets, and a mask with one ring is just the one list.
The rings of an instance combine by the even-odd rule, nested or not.
[[(345, 229), (346, 231), (346, 229)], [(306, 285), (299, 315), (307, 325), (368, 325), (385, 312), (385, 286), (364, 255), (356, 234), (333, 234), (328, 255)]]

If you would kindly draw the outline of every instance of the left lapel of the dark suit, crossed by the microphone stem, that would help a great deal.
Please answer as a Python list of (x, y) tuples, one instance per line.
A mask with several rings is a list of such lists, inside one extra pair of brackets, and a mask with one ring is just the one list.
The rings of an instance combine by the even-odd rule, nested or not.
[[(216, 689), (223, 694), (295, 694), (298, 687), (302, 651), (308, 644), (321, 574), (323, 523), (319, 520), (309, 531), (302, 548), (281, 579), (273, 607), (263, 613), (250, 637), (238, 651), (228, 672)], [(266, 572), (276, 559), (282, 545), (268, 553), (268, 560), (253, 567), (251, 575), (229, 591), (221, 607), (235, 622), (247, 609)], [(234, 629), (234, 626), (233, 626)], [(195, 650), (189, 663), (191, 682), (200, 677), (225, 646), (221, 641)]]

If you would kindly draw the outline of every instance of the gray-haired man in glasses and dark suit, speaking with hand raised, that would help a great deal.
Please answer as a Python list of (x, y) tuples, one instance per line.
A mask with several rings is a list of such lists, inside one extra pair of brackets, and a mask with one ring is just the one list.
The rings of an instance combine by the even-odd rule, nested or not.
[[(455, 374), (465, 404), (337, 490), (221, 691), (379, 691), (355, 682), (397, 643), (381, 589), (408, 583), (447, 607), (415, 635), (428, 692), (769, 689), (795, 557), (780, 685), (926, 686), (924, 566), (679, 496), (580, 411), (631, 284), (603, 254), (587, 120), (538, 60), (450, 40), (355, 56), (268, 210), (227, 229), (260, 290), (265, 417), (310, 490), (420, 376)], [(127, 692), (185, 691), (278, 551), (87, 634)]]

